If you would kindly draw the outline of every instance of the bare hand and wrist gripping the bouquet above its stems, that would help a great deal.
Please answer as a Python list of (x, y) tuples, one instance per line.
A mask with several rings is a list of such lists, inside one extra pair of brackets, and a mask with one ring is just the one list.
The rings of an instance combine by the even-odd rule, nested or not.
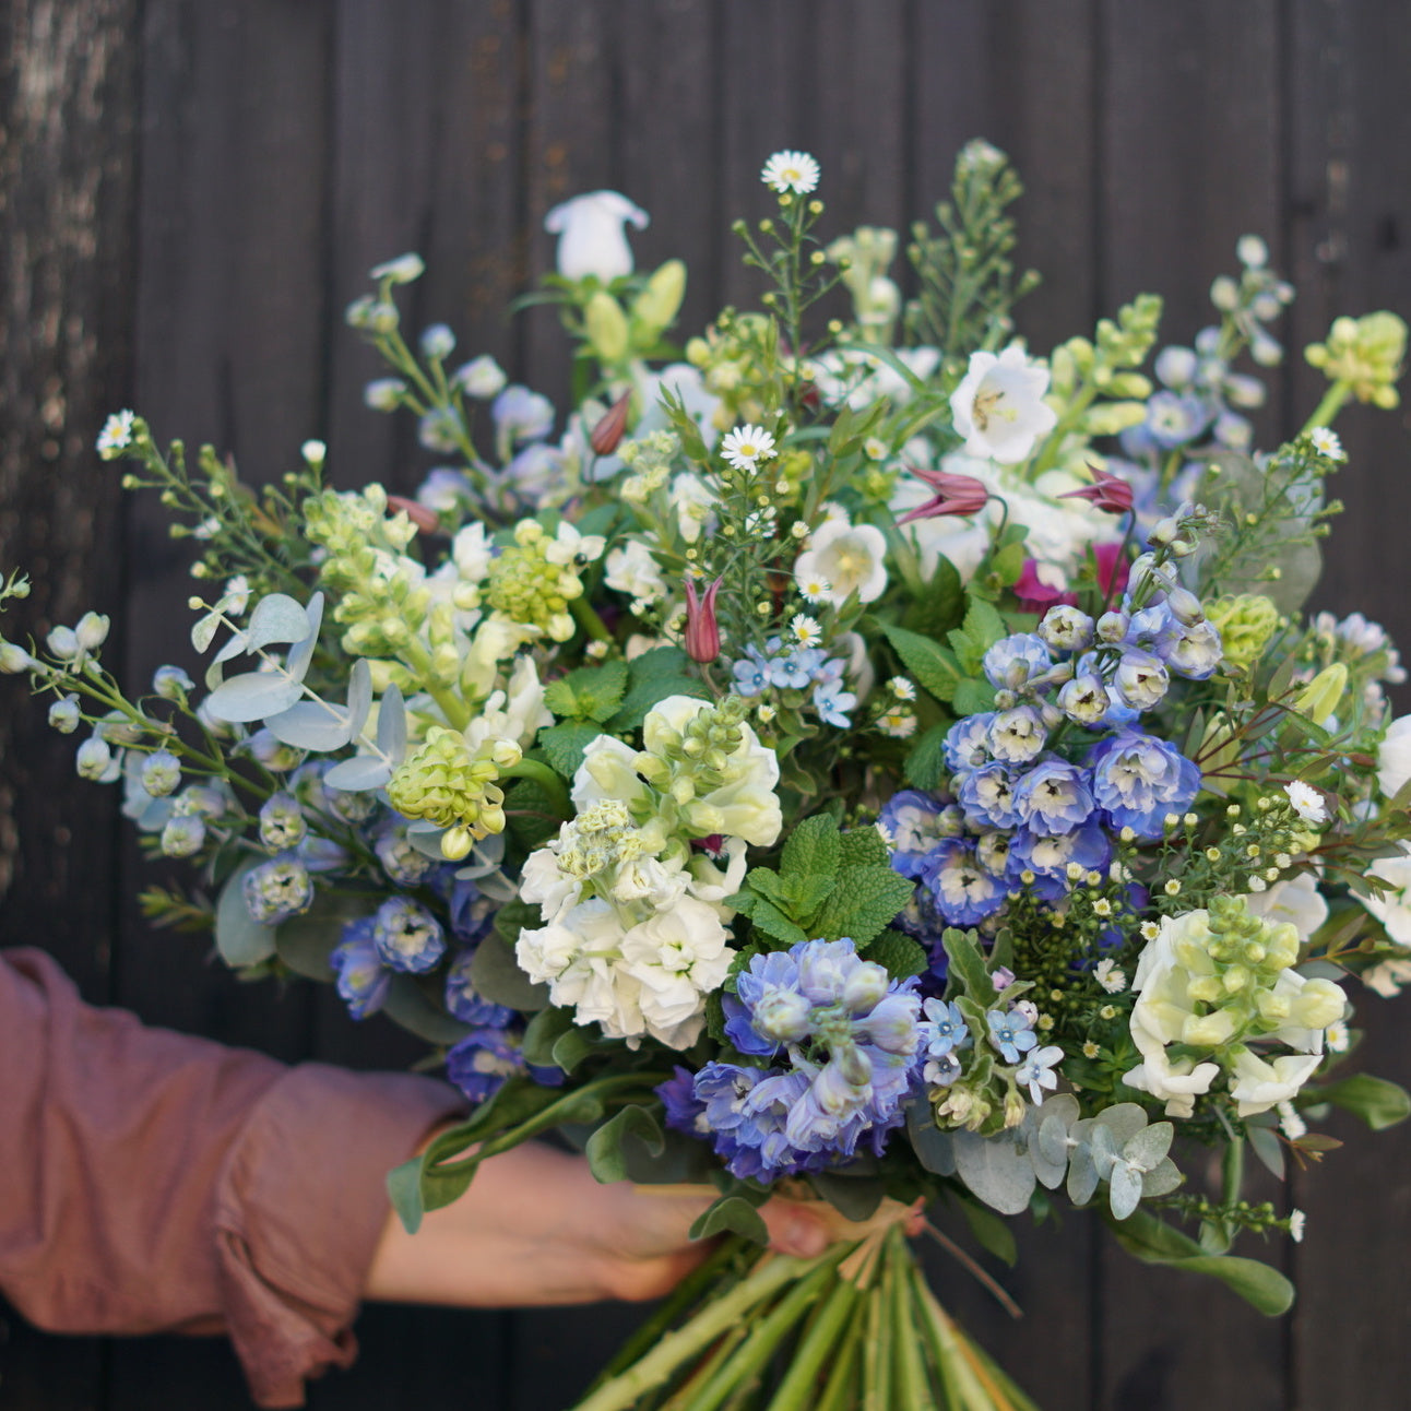
[[(526, 1143), (483, 1163), (416, 1235), (389, 1215), (364, 1297), (478, 1308), (659, 1298), (706, 1257), (689, 1230), (708, 1205), (689, 1189), (601, 1185), (581, 1157)], [(799, 1201), (775, 1197), (759, 1213), (785, 1254), (821, 1254), (837, 1237)]]

